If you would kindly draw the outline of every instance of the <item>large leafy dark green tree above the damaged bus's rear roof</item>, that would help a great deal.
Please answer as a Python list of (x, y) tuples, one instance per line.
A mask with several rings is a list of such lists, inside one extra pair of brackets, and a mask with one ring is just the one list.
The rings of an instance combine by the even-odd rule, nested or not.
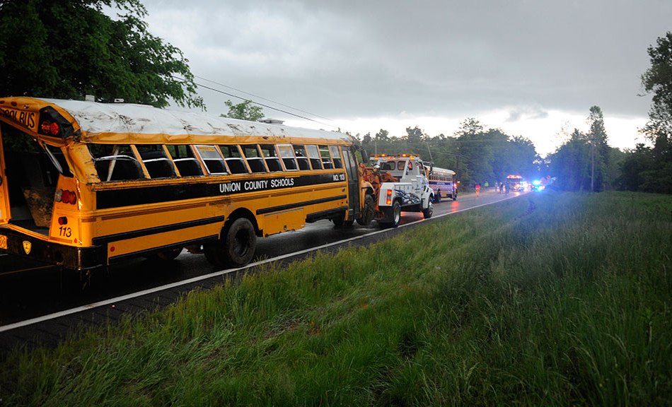
[(204, 109), (188, 60), (147, 31), (146, 15), (139, 0), (0, 1), (0, 95)]

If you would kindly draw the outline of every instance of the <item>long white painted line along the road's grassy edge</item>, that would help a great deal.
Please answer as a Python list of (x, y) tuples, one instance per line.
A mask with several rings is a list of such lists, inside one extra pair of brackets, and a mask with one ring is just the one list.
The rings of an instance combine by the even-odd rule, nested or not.
[[(509, 198), (514, 198), (514, 196), (510, 196)], [(509, 199), (509, 198), (505, 198), (505, 199)], [(505, 199), (502, 199), (502, 201), (504, 201)], [(499, 202), (499, 201), (496, 201), (496, 202)], [(490, 202), (490, 204), (494, 204), (494, 202)], [(434, 218), (441, 218), (443, 216), (452, 215), (453, 213), (469, 211), (470, 209), (480, 208), (481, 206), (486, 206), (486, 205), (489, 205), (489, 204), (480, 204), (480, 205), (477, 205), (477, 206), (472, 206), (470, 208), (458, 209), (455, 212), (448, 212), (448, 213), (443, 213), (441, 215), (434, 216)], [(422, 222), (422, 221), (424, 221), (424, 219), (419, 220), (419, 222)], [(415, 223), (417, 223), (417, 222), (405, 223), (404, 225), (399, 225), (399, 228), (405, 228), (406, 226), (415, 225)], [(122, 295), (120, 297), (110, 298), (109, 300), (92, 302), (91, 304), (81, 305), (80, 307), (75, 307), (75, 308), (71, 308), (71, 309), (64, 309), (63, 311), (54, 312), (53, 314), (47, 314), (47, 315), (44, 315), (42, 317), (36, 317), (36, 318), (32, 318), (32, 319), (26, 319), (25, 321), (21, 321), (21, 322), (15, 322), (13, 324), (7, 324), (7, 325), (4, 325), (4, 326), (0, 326), (0, 332), (11, 331), (12, 329), (21, 328), (22, 326), (37, 324), (38, 322), (45, 322), (45, 321), (49, 321), (50, 319), (56, 319), (56, 318), (59, 318), (59, 317), (65, 317), (66, 315), (76, 314), (77, 312), (86, 311), (88, 309), (103, 307), (104, 305), (112, 305), (112, 304), (115, 304), (115, 302), (130, 300), (131, 298), (140, 297), (141, 295), (152, 294), (152, 293), (156, 293), (158, 291), (163, 291), (163, 290), (168, 290), (170, 288), (180, 287), (180, 285), (187, 285), (187, 284), (191, 284), (191, 283), (196, 283), (197, 281), (207, 280), (208, 278), (213, 278), (213, 277), (217, 277), (217, 276), (224, 276), (228, 273), (233, 273), (235, 271), (248, 269), (248, 268), (254, 267), (254, 266), (260, 266), (261, 264), (267, 264), (267, 263), (270, 263), (271, 261), (278, 261), (278, 260), (286, 259), (288, 257), (297, 256), (299, 254), (315, 252), (315, 251), (320, 250), (320, 249), (325, 249), (326, 247), (335, 246), (336, 244), (344, 244), (344, 243), (347, 243), (347, 242), (353, 242), (354, 240), (362, 239), (364, 237), (378, 235), (378, 233), (383, 233), (383, 232), (386, 232), (387, 230), (388, 229), (376, 230), (376, 232), (367, 233), (366, 235), (350, 237), (349, 239), (346, 239), (346, 240), (339, 240), (338, 242), (327, 243), (327, 244), (323, 244), (322, 246), (318, 246), (318, 247), (311, 247), (310, 249), (301, 250), (300, 252), (283, 254), (282, 256), (273, 257), (272, 259), (257, 261), (255, 263), (250, 263), (247, 266), (239, 267), (238, 269), (226, 269), (226, 270), (215, 271), (214, 273), (209, 273), (209, 274), (204, 274), (203, 276), (197, 276), (197, 277), (194, 277), (194, 278), (189, 278), (188, 280), (176, 281), (175, 283), (161, 285), (161, 286), (155, 287), (155, 288), (149, 288), (147, 290), (138, 291), (137, 293)]]

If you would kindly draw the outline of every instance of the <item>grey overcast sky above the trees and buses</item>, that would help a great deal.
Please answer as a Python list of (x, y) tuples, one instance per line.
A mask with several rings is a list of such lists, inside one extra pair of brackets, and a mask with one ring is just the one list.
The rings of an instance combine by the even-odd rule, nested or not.
[[(315, 122), (265, 108), (267, 117), (392, 136), (408, 126), (452, 136), (473, 117), (542, 155), (588, 131), (593, 105), (610, 145), (642, 142), (647, 47), (672, 30), (669, 0), (142, 3), (149, 31), (184, 52), (197, 83)], [(241, 102), (199, 95), (209, 114)]]

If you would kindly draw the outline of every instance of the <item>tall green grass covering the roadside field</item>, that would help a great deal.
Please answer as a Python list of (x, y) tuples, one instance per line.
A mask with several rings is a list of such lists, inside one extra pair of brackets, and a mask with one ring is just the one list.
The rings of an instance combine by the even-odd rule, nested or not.
[(671, 253), (672, 196), (528, 194), (13, 353), (0, 404), (668, 406)]

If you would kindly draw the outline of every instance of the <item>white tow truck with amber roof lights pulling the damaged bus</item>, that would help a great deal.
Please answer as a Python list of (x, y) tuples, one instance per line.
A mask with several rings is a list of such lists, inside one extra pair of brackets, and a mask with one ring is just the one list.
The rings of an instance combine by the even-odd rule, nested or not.
[(374, 189), (376, 220), (381, 226), (396, 228), (401, 212), (422, 212), (431, 218), (434, 212), (434, 191), (427, 176), (431, 164), (424, 163), (417, 155), (374, 155), (373, 167), (366, 170)]

